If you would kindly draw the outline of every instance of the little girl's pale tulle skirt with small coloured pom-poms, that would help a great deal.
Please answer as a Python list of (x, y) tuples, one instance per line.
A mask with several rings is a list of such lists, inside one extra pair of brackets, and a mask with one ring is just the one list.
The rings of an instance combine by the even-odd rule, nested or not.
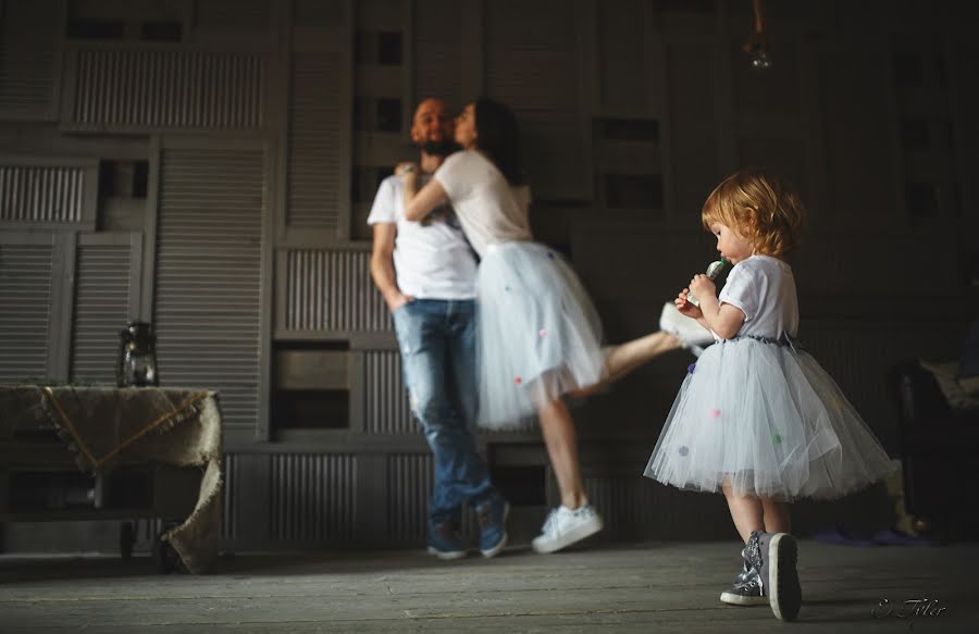
[(752, 338), (707, 348), (683, 381), (645, 475), (680, 488), (837, 498), (892, 463), (840, 387), (803, 350)]

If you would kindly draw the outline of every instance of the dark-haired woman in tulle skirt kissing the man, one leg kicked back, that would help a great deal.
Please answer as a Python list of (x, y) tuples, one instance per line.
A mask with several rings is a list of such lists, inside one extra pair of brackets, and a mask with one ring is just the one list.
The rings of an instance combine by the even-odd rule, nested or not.
[(421, 221), (450, 202), (482, 259), (479, 424), (498, 430), (537, 414), (561, 505), (533, 547), (554, 552), (603, 527), (587, 504), (574, 422), (562, 395), (594, 389), (681, 343), (654, 333), (603, 349), (598, 313), (574, 271), (558, 252), (533, 241), (518, 138), (512, 111), (482, 98), (456, 120), (455, 139), (463, 151), (448, 157), (432, 181), (419, 189), (410, 163), (396, 173), (405, 179), (405, 217)]

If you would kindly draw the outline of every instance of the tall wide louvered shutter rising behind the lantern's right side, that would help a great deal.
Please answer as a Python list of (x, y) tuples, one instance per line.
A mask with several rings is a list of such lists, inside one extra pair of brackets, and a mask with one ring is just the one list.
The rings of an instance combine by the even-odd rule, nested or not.
[(263, 156), (165, 150), (157, 234), (164, 385), (221, 393), (228, 427), (258, 420)]

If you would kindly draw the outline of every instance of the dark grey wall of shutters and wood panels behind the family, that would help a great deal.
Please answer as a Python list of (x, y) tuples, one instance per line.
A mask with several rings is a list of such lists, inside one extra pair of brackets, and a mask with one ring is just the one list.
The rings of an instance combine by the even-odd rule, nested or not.
[[(722, 176), (794, 181), (801, 337), (896, 457), (887, 368), (955, 358), (979, 304), (977, 10), (766, 4), (768, 73), (747, 0), (0, 2), (0, 381), (111, 382), (116, 331), (152, 320), (163, 382), (221, 391), (230, 546), (420, 544), (431, 461), (364, 219), (413, 104), (486, 94), (611, 341), (712, 259)], [(303, 401), (276, 377), (309, 350), (337, 370)], [(689, 361), (575, 410), (605, 538), (733, 535), (719, 497), (640, 477)], [(538, 435), (481, 445), (530, 536), (556, 501)]]

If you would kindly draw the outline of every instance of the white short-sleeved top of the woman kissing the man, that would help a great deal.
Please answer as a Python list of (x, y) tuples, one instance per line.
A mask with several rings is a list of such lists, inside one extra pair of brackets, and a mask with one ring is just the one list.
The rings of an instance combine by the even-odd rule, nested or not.
[(511, 186), (476, 150), (448, 157), (434, 178), (448, 195), (466, 237), (480, 257), (490, 245), (531, 239), (530, 188)]

